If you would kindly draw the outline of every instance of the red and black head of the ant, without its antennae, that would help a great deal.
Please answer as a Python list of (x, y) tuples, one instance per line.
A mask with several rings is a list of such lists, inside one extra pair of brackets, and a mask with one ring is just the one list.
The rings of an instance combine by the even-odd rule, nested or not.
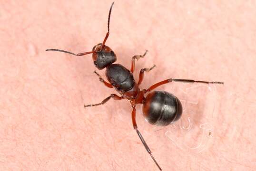
[(95, 52), (92, 54), (92, 60), (98, 69), (103, 69), (117, 60), (117, 56), (114, 51), (102, 43), (95, 45), (92, 48), (92, 51)]

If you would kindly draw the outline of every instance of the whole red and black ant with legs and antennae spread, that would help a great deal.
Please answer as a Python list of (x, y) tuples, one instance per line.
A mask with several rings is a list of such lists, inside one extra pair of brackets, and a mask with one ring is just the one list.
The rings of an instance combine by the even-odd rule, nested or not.
[[(49, 51), (49, 50), (59, 51), (59, 52), (69, 53), (75, 56), (92, 54), (92, 60), (94, 65), (99, 70), (106, 68), (106, 77), (109, 83), (105, 81), (96, 71), (94, 71), (94, 73), (99, 77), (100, 82), (102, 82), (108, 88), (115, 88), (121, 96), (118, 96), (116, 94), (111, 94), (107, 98), (105, 98), (101, 103), (88, 104), (88, 105), (84, 105), (84, 107), (91, 107), (91, 106), (98, 106), (101, 104), (105, 104), (111, 98), (113, 98), (114, 100), (128, 99), (132, 107), (131, 117), (132, 117), (133, 128), (137, 132), (138, 137), (143, 143), (143, 145), (145, 146), (147, 152), (150, 154), (151, 158), (158, 166), (158, 169), (162, 171), (158, 162), (153, 157), (152, 152), (150, 151), (146, 141), (142, 137), (141, 133), (138, 131), (138, 126), (136, 123), (136, 104), (143, 104), (143, 115), (148, 121), (148, 123), (151, 123), (153, 125), (155, 124), (155, 125), (167, 126), (171, 123), (176, 122), (181, 117), (182, 105), (179, 99), (175, 95), (172, 95), (166, 91), (151, 92), (152, 90), (154, 90), (160, 85), (164, 85), (171, 82), (203, 83), (203, 84), (224, 84), (224, 83), (169, 78), (159, 83), (156, 83), (154, 85), (151, 85), (148, 89), (140, 90), (139, 85), (143, 81), (144, 72), (145, 71), (149, 72), (155, 67), (155, 65), (152, 66), (151, 68), (141, 69), (139, 72), (139, 80), (137, 83), (133, 77), (133, 72), (135, 69), (135, 59), (138, 60), (139, 58), (145, 57), (145, 55), (148, 52), (147, 50), (144, 53), (144, 55), (135, 55), (132, 57), (130, 70), (128, 70), (121, 64), (113, 64), (117, 60), (116, 54), (110, 47), (105, 45), (109, 36), (109, 21), (110, 21), (110, 15), (111, 15), (111, 10), (113, 5), (114, 5), (114, 2), (111, 4), (111, 7), (108, 13), (108, 32), (103, 40), (103, 43), (98, 43), (97, 45), (95, 45), (92, 48), (92, 51), (79, 53), (79, 54), (74, 54), (72, 52), (59, 50), (59, 49), (47, 49), (46, 51)], [(145, 98), (146, 93), (149, 93), (149, 94)]]

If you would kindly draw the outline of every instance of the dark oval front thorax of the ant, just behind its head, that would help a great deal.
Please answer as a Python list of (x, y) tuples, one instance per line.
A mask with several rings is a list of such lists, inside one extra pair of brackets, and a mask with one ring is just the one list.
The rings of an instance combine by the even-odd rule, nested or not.
[(130, 71), (120, 64), (111, 64), (106, 69), (108, 81), (116, 88), (128, 91), (135, 83), (133, 75)]

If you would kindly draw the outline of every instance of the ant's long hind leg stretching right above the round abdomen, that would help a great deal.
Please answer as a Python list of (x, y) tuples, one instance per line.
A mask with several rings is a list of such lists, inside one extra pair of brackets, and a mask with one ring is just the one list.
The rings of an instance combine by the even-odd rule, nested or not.
[(158, 86), (160, 85), (164, 85), (164, 84), (167, 84), (167, 83), (170, 83), (170, 82), (183, 82), (183, 83), (204, 83), (204, 84), (224, 84), (224, 82), (217, 82), (217, 81), (214, 81), (214, 82), (208, 82), (208, 81), (195, 81), (195, 80), (190, 80), (190, 79), (173, 79), (173, 78), (170, 78), (170, 79), (167, 79), (167, 80), (164, 80), (164, 81), (161, 81), (157, 84), (154, 84), (154, 85), (151, 85), (146, 92), (149, 92), (155, 88), (157, 88)]

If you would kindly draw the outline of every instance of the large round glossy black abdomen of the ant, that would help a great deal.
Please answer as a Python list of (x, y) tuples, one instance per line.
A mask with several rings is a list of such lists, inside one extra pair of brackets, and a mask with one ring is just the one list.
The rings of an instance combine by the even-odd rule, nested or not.
[(175, 95), (166, 91), (154, 91), (145, 99), (143, 114), (149, 123), (166, 126), (181, 117), (182, 105)]

